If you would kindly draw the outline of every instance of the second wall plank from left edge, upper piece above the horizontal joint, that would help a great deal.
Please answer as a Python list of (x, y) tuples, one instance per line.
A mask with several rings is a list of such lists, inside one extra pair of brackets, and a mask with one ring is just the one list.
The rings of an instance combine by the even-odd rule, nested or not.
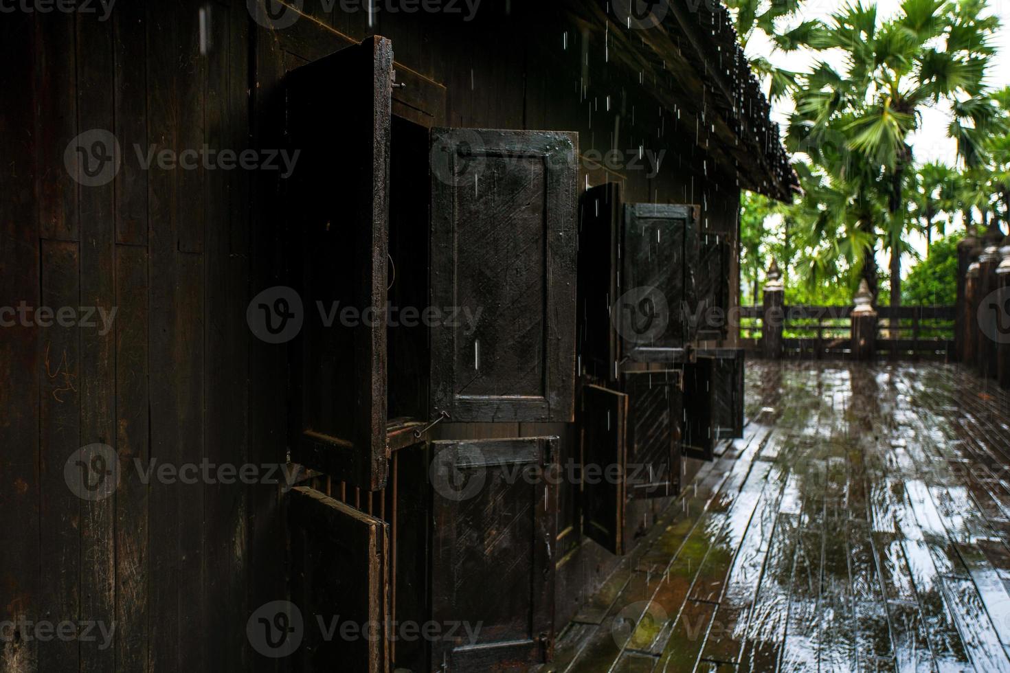
[[(39, 235), (59, 240), (80, 240), (77, 189), (67, 170), (64, 152), (77, 135), (77, 81), (74, 67), (75, 16), (54, 12), (37, 21), (37, 82), (35, 137), (37, 165), (35, 194)], [(74, 156), (76, 160), (77, 157)]]

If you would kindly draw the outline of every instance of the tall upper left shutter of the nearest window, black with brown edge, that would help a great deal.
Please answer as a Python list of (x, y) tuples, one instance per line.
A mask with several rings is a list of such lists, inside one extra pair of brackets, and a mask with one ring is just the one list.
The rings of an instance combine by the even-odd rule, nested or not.
[[(288, 124), (305, 322), (294, 345), (293, 459), (356, 486), (386, 480), (386, 288), (393, 48), (369, 37), (292, 71)], [(323, 315), (317, 307), (323, 307)], [(354, 325), (336, 317), (358, 313)]]

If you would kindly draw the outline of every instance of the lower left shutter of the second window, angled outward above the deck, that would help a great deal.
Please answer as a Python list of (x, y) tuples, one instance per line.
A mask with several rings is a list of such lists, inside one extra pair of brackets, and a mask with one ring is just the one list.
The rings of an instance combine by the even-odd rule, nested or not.
[[(582, 388), (582, 514), (586, 535), (624, 554), (628, 397), (597, 385)], [(615, 478), (616, 477), (616, 478)]]

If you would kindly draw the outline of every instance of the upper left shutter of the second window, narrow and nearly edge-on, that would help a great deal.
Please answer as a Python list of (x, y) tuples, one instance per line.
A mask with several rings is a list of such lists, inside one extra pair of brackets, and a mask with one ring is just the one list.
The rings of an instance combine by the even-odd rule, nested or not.
[(579, 208), (577, 354), (582, 371), (595, 380), (617, 379), (617, 331), (611, 305), (620, 296), (617, 243), (621, 217), (617, 183), (593, 187)]

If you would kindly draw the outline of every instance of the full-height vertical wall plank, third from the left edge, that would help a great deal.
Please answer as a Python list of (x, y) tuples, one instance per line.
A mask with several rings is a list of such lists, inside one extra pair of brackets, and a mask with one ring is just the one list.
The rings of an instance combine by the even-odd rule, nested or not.
[[(77, 112), (84, 129), (111, 131), (113, 121), (112, 25), (101, 14), (77, 15)], [(104, 181), (101, 181), (104, 182)], [(81, 305), (111, 314), (115, 304), (114, 192), (111, 182), (82, 184)], [(96, 315), (81, 329), (81, 445), (115, 444), (115, 333)], [(114, 322), (114, 318), (111, 319)], [(115, 618), (114, 499), (85, 499), (81, 507), (81, 619)], [(81, 642), (81, 670), (108, 671), (114, 648)]]

